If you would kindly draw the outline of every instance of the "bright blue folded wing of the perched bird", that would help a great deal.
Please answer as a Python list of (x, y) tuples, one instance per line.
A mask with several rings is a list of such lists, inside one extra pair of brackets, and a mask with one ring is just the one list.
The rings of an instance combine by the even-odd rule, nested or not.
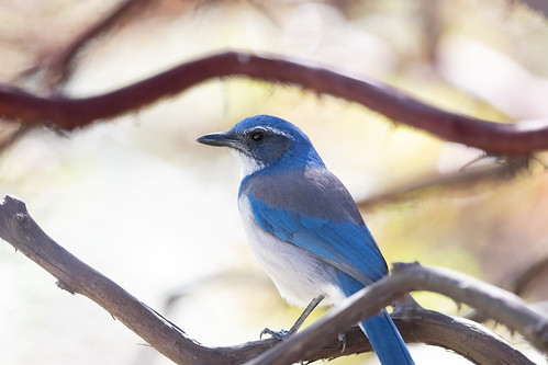
[(387, 263), (365, 225), (311, 217), (271, 207), (253, 195), (248, 198), (259, 227), (280, 240), (312, 252), (364, 285), (387, 274)]

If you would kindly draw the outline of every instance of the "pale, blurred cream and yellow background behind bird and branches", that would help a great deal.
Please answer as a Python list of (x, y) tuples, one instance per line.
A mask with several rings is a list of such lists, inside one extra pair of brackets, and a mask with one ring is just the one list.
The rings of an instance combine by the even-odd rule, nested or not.
[[(78, 53), (65, 82), (47, 78), (41, 67), (121, 3), (0, 1), (0, 81), (38, 94), (94, 95), (238, 49), (317, 61), (480, 118), (548, 116), (543, 1), (141, 1)], [(291, 327), (301, 308), (283, 303), (246, 242), (236, 161), (194, 141), (255, 114), (287, 118), (311, 137), (360, 203), (389, 263), (416, 260), (511, 285), (548, 256), (546, 153), (468, 166), (483, 152), (340, 99), (244, 78), (205, 82), (66, 134), (4, 123), (1, 135), (13, 141), (2, 144), (0, 193), (25, 202), (54, 240), (191, 338), (256, 340), (265, 327)], [(1, 364), (170, 363), (5, 242), (0, 292)], [(546, 310), (546, 274), (521, 294)], [(449, 315), (467, 310), (437, 295), (416, 297)], [(546, 362), (519, 335), (487, 326)], [(417, 364), (467, 363), (440, 349), (411, 351)]]

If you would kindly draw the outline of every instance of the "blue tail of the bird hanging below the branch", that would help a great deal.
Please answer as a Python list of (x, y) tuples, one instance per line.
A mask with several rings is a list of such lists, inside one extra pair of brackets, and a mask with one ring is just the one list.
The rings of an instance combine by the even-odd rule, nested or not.
[(390, 315), (382, 310), (359, 323), (382, 365), (415, 364)]

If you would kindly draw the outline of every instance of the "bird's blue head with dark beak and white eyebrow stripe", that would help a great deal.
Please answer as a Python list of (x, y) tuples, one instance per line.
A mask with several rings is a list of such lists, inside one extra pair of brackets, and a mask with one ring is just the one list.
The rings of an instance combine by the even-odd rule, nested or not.
[(243, 119), (230, 130), (197, 141), (230, 147), (243, 162), (244, 175), (266, 169), (323, 166), (309, 137), (293, 124), (270, 115)]

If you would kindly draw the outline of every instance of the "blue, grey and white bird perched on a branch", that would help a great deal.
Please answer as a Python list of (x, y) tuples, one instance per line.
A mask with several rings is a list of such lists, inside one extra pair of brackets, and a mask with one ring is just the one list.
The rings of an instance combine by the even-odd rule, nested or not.
[[(247, 238), (289, 304), (336, 304), (388, 274), (353, 197), (297, 126), (257, 115), (198, 141), (230, 147), (239, 158)], [(414, 364), (385, 310), (359, 326), (383, 365)]]

